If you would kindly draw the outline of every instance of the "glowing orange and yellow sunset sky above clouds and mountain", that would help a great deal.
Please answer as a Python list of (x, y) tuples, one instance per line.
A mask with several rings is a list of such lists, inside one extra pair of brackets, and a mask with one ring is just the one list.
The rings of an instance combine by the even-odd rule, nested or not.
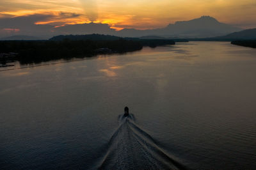
[[(177, 20), (210, 15), (243, 28), (256, 27), (255, 0), (1, 0), (0, 19), (31, 17), (35, 24), (109, 24), (112, 28), (148, 29)], [(15, 29), (8, 28), (5, 29)], [(14, 30), (15, 31), (15, 30)]]

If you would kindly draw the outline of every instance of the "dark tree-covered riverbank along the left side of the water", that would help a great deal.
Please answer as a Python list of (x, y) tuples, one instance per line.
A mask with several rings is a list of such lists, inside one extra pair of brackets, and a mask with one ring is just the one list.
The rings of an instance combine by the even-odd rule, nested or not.
[[(141, 50), (143, 46), (173, 45), (172, 40), (40, 40), (1, 41), (0, 53), (13, 52), (12, 60), (22, 64), (41, 63), (56, 59), (90, 58), (97, 54), (116, 54)], [(6, 63), (9, 58), (1, 58)]]

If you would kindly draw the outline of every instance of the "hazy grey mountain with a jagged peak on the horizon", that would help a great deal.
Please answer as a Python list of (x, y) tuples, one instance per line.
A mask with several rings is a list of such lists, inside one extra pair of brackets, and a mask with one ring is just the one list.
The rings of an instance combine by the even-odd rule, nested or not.
[(213, 17), (203, 16), (188, 21), (177, 21), (160, 29), (122, 29), (116, 31), (117, 36), (175, 36), (179, 38), (207, 38), (212, 36), (227, 35), (235, 31), (241, 31), (239, 27), (230, 26), (218, 22)]

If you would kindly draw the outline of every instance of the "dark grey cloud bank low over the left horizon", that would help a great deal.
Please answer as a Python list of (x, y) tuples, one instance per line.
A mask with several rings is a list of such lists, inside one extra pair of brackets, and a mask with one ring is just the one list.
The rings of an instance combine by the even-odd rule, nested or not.
[[(79, 17), (77, 13), (60, 12), (59, 15), (51, 14), (34, 14), (22, 17), (2, 17), (0, 18), (0, 38), (13, 35), (28, 35), (42, 38), (51, 38), (55, 35), (69, 34), (108, 34), (113, 35), (114, 29), (111, 29), (108, 24), (74, 24), (61, 27), (55, 27), (65, 24), (64, 19)], [(51, 24), (35, 24), (36, 22), (44, 22), (49, 20), (60, 20)]]

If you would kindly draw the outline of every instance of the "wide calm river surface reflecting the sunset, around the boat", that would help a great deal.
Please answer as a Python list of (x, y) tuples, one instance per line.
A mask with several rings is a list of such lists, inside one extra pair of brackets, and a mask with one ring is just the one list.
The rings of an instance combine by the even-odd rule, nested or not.
[(0, 169), (256, 168), (256, 49), (177, 43), (0, 80)]

